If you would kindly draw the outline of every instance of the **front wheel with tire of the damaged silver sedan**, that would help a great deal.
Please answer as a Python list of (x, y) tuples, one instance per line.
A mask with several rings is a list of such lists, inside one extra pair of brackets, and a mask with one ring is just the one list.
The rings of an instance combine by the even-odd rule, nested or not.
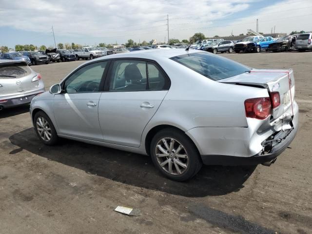
[(34, 126), (40, 141), (46, 145), (55, 145), (58, 142), (58, 135), (51, 119), (39, 111), (34, 116)]

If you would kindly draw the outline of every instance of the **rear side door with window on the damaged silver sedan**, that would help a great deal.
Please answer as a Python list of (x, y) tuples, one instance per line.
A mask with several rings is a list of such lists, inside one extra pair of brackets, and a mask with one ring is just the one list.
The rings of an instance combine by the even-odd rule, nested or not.
[(154, 62), (115, 60), (98, 104), (104, 142), (139, 147), (142, 132), (156, 113), (170, 80)]

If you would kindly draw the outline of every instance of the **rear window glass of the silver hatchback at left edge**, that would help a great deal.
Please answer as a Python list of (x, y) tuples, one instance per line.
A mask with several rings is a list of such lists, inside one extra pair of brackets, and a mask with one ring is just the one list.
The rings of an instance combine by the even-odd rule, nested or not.
[(0, 64), (0, 79), (21, 78), (31, 73), (27, 65)]

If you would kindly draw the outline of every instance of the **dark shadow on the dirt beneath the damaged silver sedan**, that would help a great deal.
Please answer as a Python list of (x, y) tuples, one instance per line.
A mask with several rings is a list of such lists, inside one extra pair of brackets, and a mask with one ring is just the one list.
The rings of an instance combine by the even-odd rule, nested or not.
[(185, 182), (176, 182), (162, 176), (149, 156), (128, 153), (106, 147), (61, 139), (56, 146), (42, 144), (33, 128), (9, 137), (20, 147), (10, 152), (27, 150), (48, 160), (75, 167), (88, 174), (102, 176), (124, 184), (187, 197), (218, 196), (237, 192), (252, 175), (256, 166), (203, 166), (200, 172)]

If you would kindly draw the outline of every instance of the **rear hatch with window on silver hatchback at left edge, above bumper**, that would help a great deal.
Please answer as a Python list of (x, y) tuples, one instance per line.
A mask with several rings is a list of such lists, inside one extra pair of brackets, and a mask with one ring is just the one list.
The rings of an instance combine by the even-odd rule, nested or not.
[(0, 95), (35, 89), (39, 81), (32, 79), (36, 76), (24, 63), (0, 63)]

